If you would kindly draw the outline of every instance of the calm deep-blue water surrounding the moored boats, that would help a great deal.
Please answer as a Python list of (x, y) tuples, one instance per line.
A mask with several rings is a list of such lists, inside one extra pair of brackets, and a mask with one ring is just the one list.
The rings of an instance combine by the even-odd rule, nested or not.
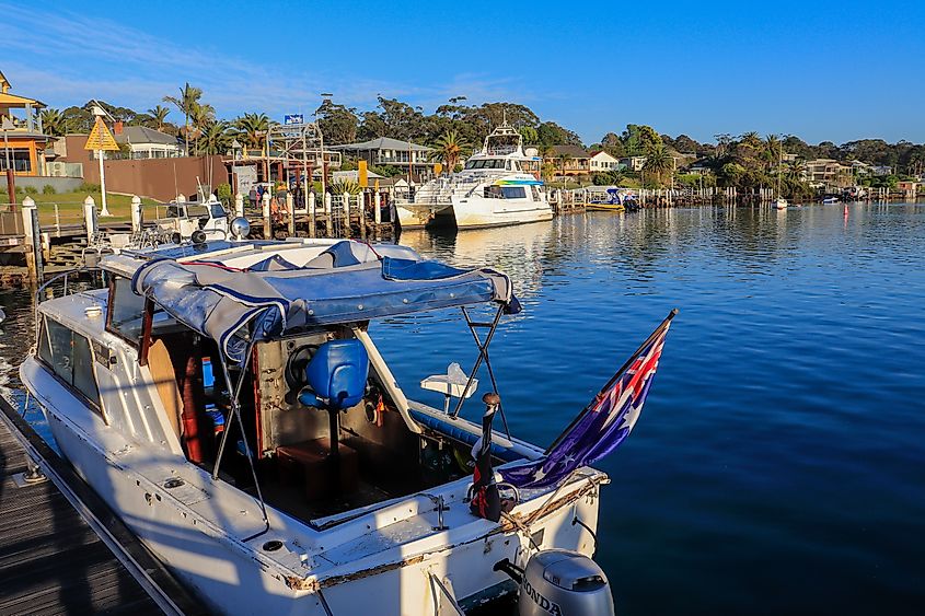
[[(511, 275), (525, 310), (493, 364), (511, 430), (541, 444), (681, 310), (600, 465), (621, 613), (925, 613), (925, 206), (601, 212), (402, 243)], [(0, 292), (11, 386), (23, 298)], [(372, 334), (413, 395), (477, 356), (454, 312)]]

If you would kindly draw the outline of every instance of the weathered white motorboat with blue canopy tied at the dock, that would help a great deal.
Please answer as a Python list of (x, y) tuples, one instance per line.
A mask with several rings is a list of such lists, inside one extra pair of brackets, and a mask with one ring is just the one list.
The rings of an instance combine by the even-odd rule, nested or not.
[[(552, 470), (495, 393), (488, 344), (519, 310), (507, 276), (325, 240), (129, 248), (100, 265), (101, 288), (38, 304), (21, 379), (78, 473), (210, 611), (452, 614), (519, 590), (523, 614), (612, 613), (589, 558), (608, 476), (580, 466), (518, 488), (530, 465)], [(450, 307), (478, 358), (425, 380), (440, 409), (407, 397), (369, 326)], [(483, 363), (492, 391), (471, 421)]]

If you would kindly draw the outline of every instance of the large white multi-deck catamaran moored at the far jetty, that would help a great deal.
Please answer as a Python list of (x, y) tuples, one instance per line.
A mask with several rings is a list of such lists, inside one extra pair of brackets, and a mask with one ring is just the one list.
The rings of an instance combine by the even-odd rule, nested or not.
[(441, 223), (481, 229), (552, 220), (539, 163), (524, 153), (523, 137), (504, 123), (462, 171), (427, 182), (413, 198), (397, 199), (398, 222), (402, 229)]

